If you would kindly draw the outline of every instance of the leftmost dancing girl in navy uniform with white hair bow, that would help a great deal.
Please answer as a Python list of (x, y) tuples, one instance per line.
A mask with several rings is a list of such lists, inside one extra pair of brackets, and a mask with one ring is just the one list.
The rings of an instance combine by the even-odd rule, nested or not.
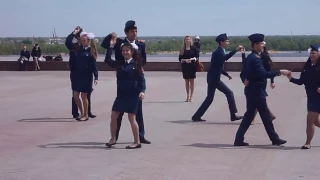
[[(74, 34), (77, 34), (77, 28)], [(68, 39), (69, 40), (69, 39)], [(71, 39), (72, 41), (72, 39)], [(72, 43), (72, 42), (68, 42)], [(72, 80), (72, 90), (75, 102), (80, 110), (78, 121), (87, 121), (88, 117), (88, 93), (92, 91), (93, 77), (94, 84), (98, 84), (98, 69), (96, 59), (98, 56), (97, 48), (92, 33), (80, 33), (80, 47), (75, 50), (74, 75)], [(81, 100), (80, 97), (81, 96)]]

